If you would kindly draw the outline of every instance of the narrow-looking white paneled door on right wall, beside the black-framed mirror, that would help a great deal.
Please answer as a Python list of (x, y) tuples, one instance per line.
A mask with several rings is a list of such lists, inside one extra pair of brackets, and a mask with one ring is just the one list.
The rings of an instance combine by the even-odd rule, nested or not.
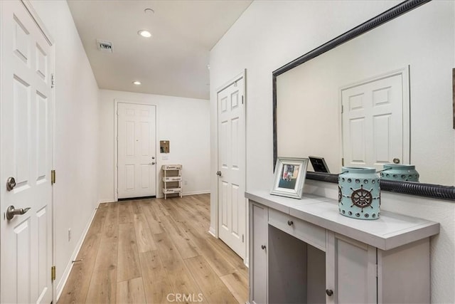
[(245, 110), (242, 77), (218, 92), (218, 231), (245, 258)]

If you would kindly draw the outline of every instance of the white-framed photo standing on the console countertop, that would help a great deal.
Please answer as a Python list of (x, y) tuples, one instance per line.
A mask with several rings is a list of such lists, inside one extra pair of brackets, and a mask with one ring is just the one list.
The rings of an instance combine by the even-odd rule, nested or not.
[(308, 162), (308, 158), (278, 157), (270, 194), (301, 199)]

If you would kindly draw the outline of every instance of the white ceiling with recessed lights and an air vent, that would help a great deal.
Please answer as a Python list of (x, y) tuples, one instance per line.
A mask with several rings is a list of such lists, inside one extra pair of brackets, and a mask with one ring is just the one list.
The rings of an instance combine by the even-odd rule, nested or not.
[[(251, 2), (68, 0), (68, 5), (100, 88), (209, 99), (210, 49)], [(141, 29), (153, 36), (139, 36)], [(98, 51), (97, 39), (112, 42), (113, 53)]]

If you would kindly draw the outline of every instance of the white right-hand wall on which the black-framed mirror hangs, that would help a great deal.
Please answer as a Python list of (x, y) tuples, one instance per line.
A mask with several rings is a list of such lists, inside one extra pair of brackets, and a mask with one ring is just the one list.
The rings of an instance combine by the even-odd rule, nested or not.
[[(210, 52), (210, 172), (216, 172), (218, 163), (216, 88), (247, 69), (247, 191), (269, 189), (273, 181), (272, 71), (398, 2), (254, 1)], [(298, 132), (294, 136), (298, 138)], [(218, 179), (212, 175), (210, 229), (215, 230)], [(333, 199), (338, 195), (336, 184), (311, 180), (306, 181), (306, 191)], [(441, 234), (431, 244), (432, 303), (454, 303), (455, 204), (383, 192), (382, 207), (441, 223)]]

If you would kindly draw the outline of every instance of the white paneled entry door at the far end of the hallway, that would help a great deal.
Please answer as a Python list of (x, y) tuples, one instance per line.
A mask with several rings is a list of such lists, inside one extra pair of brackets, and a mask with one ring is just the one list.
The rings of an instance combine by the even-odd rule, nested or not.
[(117, 104), (119, 199), (156, 196), (156, 108)]

